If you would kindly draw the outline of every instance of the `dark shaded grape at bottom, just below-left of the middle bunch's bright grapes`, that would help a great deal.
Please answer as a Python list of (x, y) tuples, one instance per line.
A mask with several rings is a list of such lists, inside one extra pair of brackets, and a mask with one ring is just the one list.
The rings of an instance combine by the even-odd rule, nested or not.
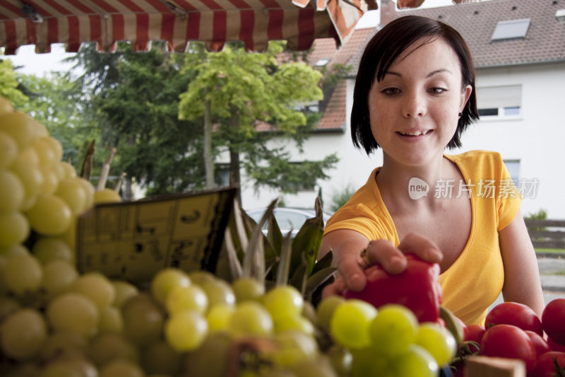
[(179, 376), (182, 369), (183, 354), (175, 351), (165, 340), (162, 340), (150, 344), (143, 351), (141, 360), (145, 373)]

